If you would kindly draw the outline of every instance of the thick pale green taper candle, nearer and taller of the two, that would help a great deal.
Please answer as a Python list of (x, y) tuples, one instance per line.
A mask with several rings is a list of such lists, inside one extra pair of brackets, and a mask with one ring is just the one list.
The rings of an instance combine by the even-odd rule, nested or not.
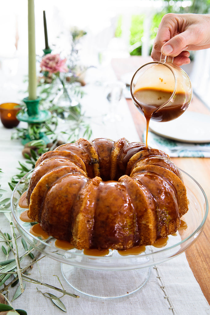
[(37, 99), (34, 0), (28, 0), (28, 98)]

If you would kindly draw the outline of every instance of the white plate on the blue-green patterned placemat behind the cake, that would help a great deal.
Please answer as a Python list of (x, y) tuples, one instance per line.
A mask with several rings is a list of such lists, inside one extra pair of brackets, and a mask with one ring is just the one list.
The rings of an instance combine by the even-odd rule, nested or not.
[(150, 120), (152, 132), (165, 138), (190, 143), (210, 142), (210, 115), (184, 112), (180, 117), (166, 123)]

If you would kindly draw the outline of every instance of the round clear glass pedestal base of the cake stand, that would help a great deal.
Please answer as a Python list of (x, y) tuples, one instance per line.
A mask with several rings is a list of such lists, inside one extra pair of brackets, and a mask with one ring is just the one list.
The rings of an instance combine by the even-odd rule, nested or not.
[(139, 290), (149, 278), (150, 267), (110, 271), (83, 269), (61, 263), (61, 272), (68, 284), (78, 292), (101, 299), (113, 299)]

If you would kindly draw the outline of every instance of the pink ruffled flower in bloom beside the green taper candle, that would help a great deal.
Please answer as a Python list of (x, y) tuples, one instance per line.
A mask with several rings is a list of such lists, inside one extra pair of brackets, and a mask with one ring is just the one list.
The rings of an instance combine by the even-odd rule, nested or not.
[(65, 65), (66, 59), (60, 59), (59, 54), (47, 54), (42, 58), (40, 67), (42, 71), (48, 71), (51, 73), (68, 72), (68, 68)]

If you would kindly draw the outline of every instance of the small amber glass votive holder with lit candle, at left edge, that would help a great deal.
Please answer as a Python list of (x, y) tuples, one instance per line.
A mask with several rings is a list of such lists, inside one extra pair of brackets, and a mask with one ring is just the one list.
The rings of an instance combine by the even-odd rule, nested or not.
[(16, 118), (20, 111), (20, 104), (3, 103), (0, 105), (0, 118), (5, 128), (17, 127), (20, 121)]

